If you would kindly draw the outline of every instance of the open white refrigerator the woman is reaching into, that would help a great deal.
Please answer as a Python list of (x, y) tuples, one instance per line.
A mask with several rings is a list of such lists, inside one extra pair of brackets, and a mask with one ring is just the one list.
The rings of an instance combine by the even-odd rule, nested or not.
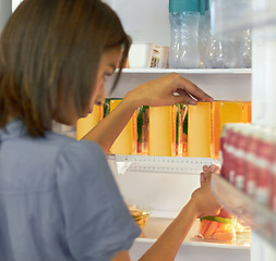
[[(0, 0), (0, 29), (21, 1)], [(118, 13), (133, 42), (170, 46), (169, 0), (105, 0), (105, 2)], [(273, 85), (276, 83), (274, 78), (276, 74), (273, 70), (276, 61), (274, 59), (276, 58), (274, 38), (276, 37), (276, 26), (274, 27), (276, 7), (274, 0), (213, 0), (213, 2), (216, 9), (215, 23), (217, 23), (214, 26), (216, 34), (223, 32), (232, 34), (244, 26), (252, 28), (252, 70), (125, 69), (117, 89), (109, 98), (122, 98), (128, 90), (143, 82), (176, 72), (195, 83), (216, 100), (252, 101), (252, 122), (275, 127), (273, 97), (276, 97), (274, 94), (276, 90)], [(230, 5), (227, 5), (227, 2), (230, 2)], [(111, 83), (112, 78), (107, 84), (107, 88), (111, 87)], [(192, 191), (200, 186), (202, 166), (217, 163), (209, 158), (119, 154), (109, 156), (108, 162), (124, 200), (151, 211), (148, 223), (130, 250), (131, 260), (139, 260), (189, 201)], [(221, 186), (216, 178), (213, 181), (214, 194), (223, 203), (227, 203), (227, 198), (224, 197), (229, 194), (238, 201), (241, 198), (242, 202), (247, 202), (247, 197), (240, 195), (230, 184), (226, 184), (226, 188)], [(220, 191), (224, 189), (229, 190)], [(275, 213), (268, 212), (268, 219), (276, 226), (275, 216)], [(199, 222), (196, 221), (181, 245), (176, 260), (276, 260), (276, 235), (271, 239), (260, 234), (254, 229), (255, 225), (260, 225), (259, 220), (253, 217), (251, 220), (253, 220), (251, 237), (244, 236), (231, 244), (197, 240), (195, 235)]]

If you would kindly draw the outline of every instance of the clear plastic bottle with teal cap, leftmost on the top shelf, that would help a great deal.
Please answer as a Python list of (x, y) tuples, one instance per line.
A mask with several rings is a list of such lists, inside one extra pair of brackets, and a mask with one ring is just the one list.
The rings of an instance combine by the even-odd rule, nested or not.
[(171, 28), (169, 67), (199, 67), (200, 16), (200, 0), (169, 1), (169, 20)]

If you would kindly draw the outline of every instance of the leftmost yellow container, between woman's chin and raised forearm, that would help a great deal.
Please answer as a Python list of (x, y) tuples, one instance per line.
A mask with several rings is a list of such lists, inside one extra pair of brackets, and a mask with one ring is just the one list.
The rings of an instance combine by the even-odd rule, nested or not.
[(82, 139), (92, 128), (94, 128), (104, 116), (104, 107), (94, 105), (93, 112), (86, 117), (79, 119), (76, 122), (76, 139)]

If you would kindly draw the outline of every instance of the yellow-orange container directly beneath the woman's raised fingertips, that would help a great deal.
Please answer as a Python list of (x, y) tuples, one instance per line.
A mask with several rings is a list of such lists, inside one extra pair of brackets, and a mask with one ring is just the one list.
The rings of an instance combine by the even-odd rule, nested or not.
[(188, 105), (188, 157), (211, 158), (211, 102)]

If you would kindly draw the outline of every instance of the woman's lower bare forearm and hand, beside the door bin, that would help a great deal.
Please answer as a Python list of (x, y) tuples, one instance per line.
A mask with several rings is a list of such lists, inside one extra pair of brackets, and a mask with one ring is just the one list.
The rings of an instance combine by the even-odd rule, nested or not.
[[(197, 188), (156, 243), (143, 254), (140, 261), (172, 261), (191, 229), (194, 221), (207, 215), (217, 215), (220, 206), (217, 203), (211, 190), (211, 175), (218, 170), (217, 166), (205, 167), (201, 174), (201, 187)], [(116, 254), (112, 261), (130, 261), (129, 252), (122, 251)]]

